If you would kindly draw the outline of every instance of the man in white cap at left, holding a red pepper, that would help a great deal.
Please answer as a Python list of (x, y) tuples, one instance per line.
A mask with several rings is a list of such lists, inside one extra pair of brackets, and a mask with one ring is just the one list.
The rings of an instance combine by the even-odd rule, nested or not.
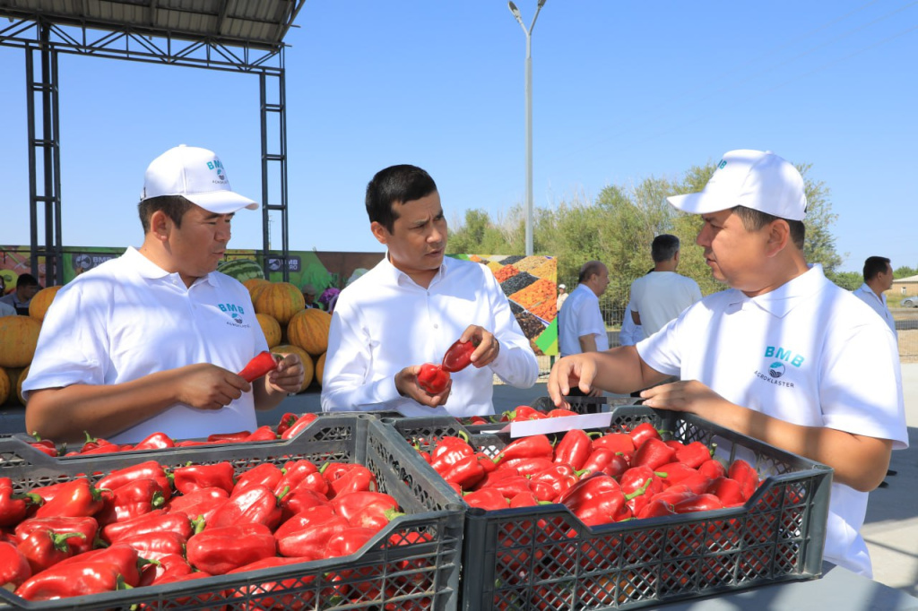
[(23, 383), (26, 427), (130, 443), (254, 430), (255, 409), (299, 390), (303, 365), (236, 374), (267, 350), (245, 287), (216, 272), (230, 221), (258, 204), (233, 193), (217, 155), (185, 145), (147, 168), (140, 249), (79, 275), (55, 296)]

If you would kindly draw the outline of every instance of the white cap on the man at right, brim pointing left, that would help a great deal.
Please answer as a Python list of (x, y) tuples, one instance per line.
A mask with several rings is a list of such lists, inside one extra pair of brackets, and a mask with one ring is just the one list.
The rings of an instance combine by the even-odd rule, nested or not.
[(797, 168), (770, 150), (724, 153), (700, 193), (672, 195), (666, 200), (696, 215), (745, 206), (788, 220), (803, 220), (806, 216), (803, 177)]

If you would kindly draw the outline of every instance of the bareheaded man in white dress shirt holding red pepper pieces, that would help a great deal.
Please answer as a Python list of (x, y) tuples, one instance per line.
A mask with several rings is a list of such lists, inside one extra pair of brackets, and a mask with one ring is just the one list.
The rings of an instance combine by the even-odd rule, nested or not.
[[(538, 362), (494, 274), (443, 256), (446, 218), (430, 174), (411, 165), (377, 172), (366, 188), (366, 211), (388, 252), (339, 295), (322, 409), (470, 417), (494, 413), (494, 374), (532, 386)], [(424, 390), (423, 363), (440, 363), (456, 339), (476, 346), (472, 366), (453, 372), (440, 392), (441, 384), (425, 383), (435, 390)]]

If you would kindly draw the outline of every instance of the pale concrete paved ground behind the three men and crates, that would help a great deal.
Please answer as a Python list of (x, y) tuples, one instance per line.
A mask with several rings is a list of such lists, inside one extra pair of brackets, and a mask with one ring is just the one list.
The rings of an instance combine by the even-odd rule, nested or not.
[[(911, 447), (893, 452), (890, 468), (898, 473), (887, 478), (888, 487), (870, 494), (863, 533), (873, 558), (874, 579), (918, 597), (918, 363), (902, 365), (902, 385)], [(543, 382), (527, 390), (496, 385), (494, 406), (502, 412), (544, 395)], [(319, 411), (319, 393), (298, 394), (270, 412), (261, 412), (260, 424), (276, 424), (286, 411)], [(0, 408), (0, 433), (23, 427), (22, 408)]]

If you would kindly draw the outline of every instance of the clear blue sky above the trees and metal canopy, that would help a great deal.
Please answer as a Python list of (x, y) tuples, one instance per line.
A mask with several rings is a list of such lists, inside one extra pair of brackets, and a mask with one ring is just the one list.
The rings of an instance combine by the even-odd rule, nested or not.
[[(528, 26), (536, 0), (517, 5)], [(505, 2), (308, 0), (297, 26), (291, 249), (381, 250), (364, 188), (393, 163), (431, 172), (450, 221), (523, 201), (525, 39)], [(535, 206), (774, 150), (831, 189), (843, 270), (872, 254), (918, 266), (918, 3), (548, 0), (532, 58)], [(260, 198), (256, 77), (60, 67), (65, 245), (139, 245), (143, 171), (183, 142)], [(28, 245), (25, 99), (23, 52), (0, 48), (0, 244)], [(260, 213), (242, 211), (230, 248), (261, 244)]]

